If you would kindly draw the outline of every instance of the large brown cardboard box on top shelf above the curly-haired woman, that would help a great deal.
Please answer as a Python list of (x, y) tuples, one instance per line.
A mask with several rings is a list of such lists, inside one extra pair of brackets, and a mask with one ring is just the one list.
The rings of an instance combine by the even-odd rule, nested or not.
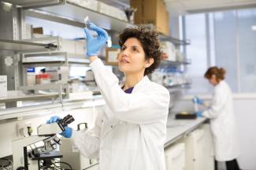
[(169, 35), (169, 13), (163, 0), (131, 0), (136, 8), (135, 24), (154, 24), (156, 31)]

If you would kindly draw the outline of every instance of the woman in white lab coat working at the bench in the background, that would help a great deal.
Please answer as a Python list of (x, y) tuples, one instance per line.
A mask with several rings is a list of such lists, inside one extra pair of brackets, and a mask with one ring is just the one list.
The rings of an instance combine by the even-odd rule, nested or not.
[[(213, 102), (208, 110), (198, 114), (210, 118), (215, 159), (225, 161), (227, 170), (239, 170), (236, 161), (236, 157), (239, 156), (239, 144), (232, 91), (224, 81), (224, 74), (225, 70), (218, 67), (210, 67), (206, 71), (205, 78), (214, 86)], [(203, 104), (201, 99), (197, 100), (198, 103)], [(215, 161), (215, 169), (217, 169), (217, 161)]]

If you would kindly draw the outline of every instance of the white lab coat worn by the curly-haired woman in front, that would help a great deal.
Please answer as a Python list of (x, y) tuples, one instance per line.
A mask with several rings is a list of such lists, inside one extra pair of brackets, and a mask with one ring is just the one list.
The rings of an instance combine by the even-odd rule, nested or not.
[(89, 132), (73, 132), (86, 157), (97, 157), (100, 170), (165, 170), (164, 143), (169, 91), (145, 76), (127, 94), (101, 60), (91, 63), (106, 100), (104, 113)]

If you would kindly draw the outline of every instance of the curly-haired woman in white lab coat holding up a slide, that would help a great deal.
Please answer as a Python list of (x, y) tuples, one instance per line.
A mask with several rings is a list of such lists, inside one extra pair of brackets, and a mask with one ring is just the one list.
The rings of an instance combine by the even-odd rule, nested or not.
[(76, 132), (67, 127), (66, 137), (72, 136), (84, 156), (99, 157), (100, 170), (165, 170), (169, 91), (147, 77), (161, 61), (158, 34), (142, 27), (126, 28), (121, 33), (117, 60), (126, 80), (120, 86), (97, 56), (106, 44), (106, 31), (92, 23), (89, 28), (98, 37), (84, 29), (87, 57), (106, 106), (96, 118), (95, 128)]

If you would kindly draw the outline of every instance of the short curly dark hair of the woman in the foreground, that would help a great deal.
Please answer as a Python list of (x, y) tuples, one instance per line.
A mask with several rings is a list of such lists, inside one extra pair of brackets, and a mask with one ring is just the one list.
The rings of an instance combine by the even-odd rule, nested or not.
[(122, 47), (128, 38), (137, 38), (143, 45), (146, 60), (153, 58), (154, 63), (147, 67), (144, 75), (151, 74), (159, 66), (161, 62), (162, 52), (160, 50), (160, 42), (156, 31), (147, 31), (145, 27), (125, 28), (119, 35), (119, 45)]

